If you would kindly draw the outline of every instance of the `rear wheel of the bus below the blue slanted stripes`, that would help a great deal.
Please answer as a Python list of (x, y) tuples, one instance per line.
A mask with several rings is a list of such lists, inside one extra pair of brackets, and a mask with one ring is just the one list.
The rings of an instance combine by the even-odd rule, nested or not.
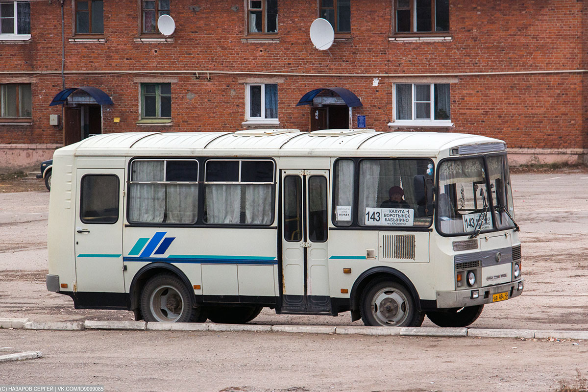
[(141, 292), (141, 313), (145, 321), (188, 323), (198, 320), (202, 309), (194, 307), (194, 294), (173, 274), (152, 276)]

